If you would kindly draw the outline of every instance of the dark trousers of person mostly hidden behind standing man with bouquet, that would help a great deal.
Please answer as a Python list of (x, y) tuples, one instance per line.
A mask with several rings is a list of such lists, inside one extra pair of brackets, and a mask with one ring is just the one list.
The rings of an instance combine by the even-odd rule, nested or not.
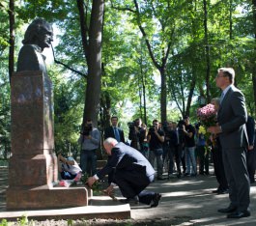
[(217, 180), (218, 189), (226, 190), (228, 188), (228, 183), (225, 175), (223, 160), (222, 160), (222, 150), (221, 147), (214, 147), (212, 151), (213, 155), (213, 168), (215, 177)]

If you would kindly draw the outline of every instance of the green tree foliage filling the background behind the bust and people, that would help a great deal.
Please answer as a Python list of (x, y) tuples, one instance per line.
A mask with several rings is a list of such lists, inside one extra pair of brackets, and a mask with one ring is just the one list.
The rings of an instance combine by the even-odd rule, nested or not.
[[(168, 43), (171, 46), (164, 69), (167, 74), (168, 120), (177, 121), (188, 108), (192, 120), (196, 121), (197, 97), (206, 95), (207, 89), (211, 99), (219, 96), (214, 77), (216, 70), (225, 66), (235, 68), (236, 85), (242, 89), (249, 114), (254, 115), (252, 74), (256, 64), (256, 44), (251, 1), (207, 1), (208, 42), (203, 1), (137, 0), (138, 14), (134, 13), (133, 0), (111, 2), (105, 1), (104, 8), (101, 77), (101, 97), (110, 97), (110, 105), (104, 99), (101, 105), (110, 107), (107, 112), (118, 115), (124, 127), (135, 118), (143, 118), (143, 95), (146, 97), (148, 124), (155, 118), (160, 119), (159, 69), (152, 61), (146, 40), (158, 65), (162, 63)], [(8, 1), (1, 1), (0, 7), (0, 152), (8, 155), (11, 150)], [(85, 1), (84, 7), (87, 14), (85, 24), (90, 28), (92, 1)], [(16, 47), (23, 38), (24, 27), (36, 16), (46, 18), (54, 23), (54, 28), (57, 27), (58, 44), (54, 49), (57, 60), (86, 74), (88, 69), (76, 2), (24, 0), (15, 4)], [(138, 25), (144, 28), (146, 37), (142, 37)], [(206, 47), (210, 48), (209, 87), (206, 87)], [(54, 84), (56, 151), (77, 153), (86, 79), (60, 65), (52, 66), (48, 72)], [(193, 82), (195, 88), (189, 106), (187, 99)], [(142, 93), (143, 86), (145, 94)]]

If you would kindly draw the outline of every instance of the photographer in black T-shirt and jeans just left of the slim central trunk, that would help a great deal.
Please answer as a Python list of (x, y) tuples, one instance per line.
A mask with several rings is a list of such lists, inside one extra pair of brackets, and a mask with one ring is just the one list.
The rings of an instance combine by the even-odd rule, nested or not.
[(150, 155), (149, 161), (154, 167), (155, 158), (157, 165), (157, 180), (164, 180), (162, 178), (162, 154), (163, 154), (163, 142), (164, 142), (164, 132), (159, 129), (159, 123), (157, 120), (153, 121), (153, 126), (150, 127), (148, 133), (148, 143), (150, 145)]

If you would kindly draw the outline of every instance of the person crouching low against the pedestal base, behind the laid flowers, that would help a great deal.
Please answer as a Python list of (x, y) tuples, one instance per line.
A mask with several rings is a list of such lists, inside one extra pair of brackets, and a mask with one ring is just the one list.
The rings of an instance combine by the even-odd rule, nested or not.
[(71, 156), (66, 158), (59, 154), (58, 169), (63, 180), (79, 181), (82, 176), (81, 168)]

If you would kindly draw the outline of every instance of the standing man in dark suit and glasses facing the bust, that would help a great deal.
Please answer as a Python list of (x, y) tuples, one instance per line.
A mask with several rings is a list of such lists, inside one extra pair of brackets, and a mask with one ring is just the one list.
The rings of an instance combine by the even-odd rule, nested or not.
[(225, 174), (229, 184), (230, 205), (218, 212), (228, 213), (228, 218), (250, 215), (250, 182), (246, 167), (248, 146), (246, 121), (247, 111), (242, 92), (234, 86), (235, 71), (221, 68), (215, 78), (216, 86), (222, 90), (217, 112), (218, 125), (208, 131), (219, 134)]

